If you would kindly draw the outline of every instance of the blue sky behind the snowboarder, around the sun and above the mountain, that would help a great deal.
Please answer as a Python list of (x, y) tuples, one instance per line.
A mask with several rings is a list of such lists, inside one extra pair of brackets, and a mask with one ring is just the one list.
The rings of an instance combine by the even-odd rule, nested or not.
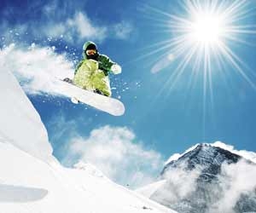
[[(183, 153), (199, 142), (224, 141), (239, 150), (255, 151), (255, 89), (228, 60), (223, 60), (221, 68), (212, 63), (211, 87), (204, 80), (202, 66), (191, 78), (195, 60), (190, 60), (183, 72), (176, 72), (184, 55), (179, 55), (160, 72), (152, 73), (158, 61), (172, 53), (172, 49), (161, 49), (166, 45), (161, 42), (177, 37), (168, 26), (172, 14), (186, 16), (178, 2), (1, 2), (2, 47), (9, 43), (23, 47), (32, 43), (42, 48), (55, 46), (55, 53), (66, 54), (74, 67), (82, 57), (83, 43), (92, 40), (102, 54), (123, 68), (121, 75), (111, 76), (112, 87), (116, 88), (113, 97), (120, 96), (125, 104), (122, 117), (84, 105), (74, 106), (59, 96), (29, 94), (49, 132), (57, 158), (66, 162), (74, 136), (87, 140), (92, 130), (106, 126), (126, 128), (134, 134), (133, 143), (143, 144), (145, 150), (159, 153), (162, 159)], [(250, 8), (249, 15), (239, 20), (239, 25), (249, 25), (254, 31), (241, 35), (247, 43), (228, 41), (244, 62), (242, 71), (253, 83), (256, 79), (255, 7), (253, 0), (247, 1), (243, 9)], [(177, 81), (175, 73), (180, 73)], [(204, 83), (207, 84), (205, 95)]]

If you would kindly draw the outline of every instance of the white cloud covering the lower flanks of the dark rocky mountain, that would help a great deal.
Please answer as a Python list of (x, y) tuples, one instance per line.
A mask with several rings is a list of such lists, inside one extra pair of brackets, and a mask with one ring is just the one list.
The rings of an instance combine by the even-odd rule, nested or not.
[[(185, 164), (168, 170), (166, 182), (151, 196), (160, 204), (179, 212), (234, 213), (252, 210), (256, 204), (256, 166), (241, 160), (223, 164), (221, 172), (212, 181), (198, 181), (203, 167), (186, 170)], [(241, 199), (243, 198), (243, 199)], [(237, 204), (240, 202), (240, 204)]]

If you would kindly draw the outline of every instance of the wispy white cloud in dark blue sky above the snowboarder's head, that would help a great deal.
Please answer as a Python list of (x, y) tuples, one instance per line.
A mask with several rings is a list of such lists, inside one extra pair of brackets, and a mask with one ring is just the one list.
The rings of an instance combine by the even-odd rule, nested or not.
[(133, 32), (133, 26), (125, 20), (121, 20), (113, 26), (98, 26), (90, 20), (87, 14), (79, 11), (73, 17), (59, 22), (50, 22), (33, 32), (35, 35), (43, 32), (45, 37), (58, 38), (62, 36), (62, 39), (69, 43), (83, 42), (84, 39), (102, 42), (107, 37), (128, 39)]

